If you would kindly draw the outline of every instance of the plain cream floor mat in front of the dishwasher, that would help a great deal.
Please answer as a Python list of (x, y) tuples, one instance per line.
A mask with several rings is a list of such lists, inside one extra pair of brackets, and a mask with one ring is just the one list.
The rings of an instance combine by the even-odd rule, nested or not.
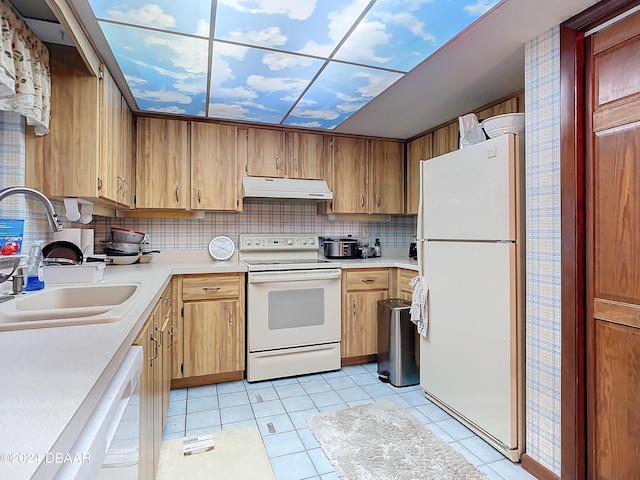
[(156, 480), (251, 479), (273, 480), (269, 457), (256, 427), (238, 427), (212, 432), (214, 449), (183, 454), (185, 440), (162, 442)]

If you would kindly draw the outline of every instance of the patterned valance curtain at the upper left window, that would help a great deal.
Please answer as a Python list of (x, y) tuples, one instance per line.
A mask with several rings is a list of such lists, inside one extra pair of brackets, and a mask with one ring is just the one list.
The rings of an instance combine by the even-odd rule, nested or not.
[(0, 110), (24, 115), (36, 135), (46, 135), (51, 117), (49, 50), (7, 0), (0, 0), (0, 13)]

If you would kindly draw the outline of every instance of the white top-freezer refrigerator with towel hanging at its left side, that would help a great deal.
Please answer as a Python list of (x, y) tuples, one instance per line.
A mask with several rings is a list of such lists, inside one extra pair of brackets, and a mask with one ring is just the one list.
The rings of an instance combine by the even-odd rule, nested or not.
[(512, 461), (524, 447), (523, 145), (506, 134), (422, 161), (417, 235), (420, 386)]

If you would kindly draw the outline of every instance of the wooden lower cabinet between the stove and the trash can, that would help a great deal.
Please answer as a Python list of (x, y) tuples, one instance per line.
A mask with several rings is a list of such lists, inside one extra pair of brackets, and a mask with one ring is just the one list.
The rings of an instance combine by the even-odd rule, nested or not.
[(346, 270), (342, 276), (342, 364), (375, 360), (378, 301), (389, 298), (386, 268)]

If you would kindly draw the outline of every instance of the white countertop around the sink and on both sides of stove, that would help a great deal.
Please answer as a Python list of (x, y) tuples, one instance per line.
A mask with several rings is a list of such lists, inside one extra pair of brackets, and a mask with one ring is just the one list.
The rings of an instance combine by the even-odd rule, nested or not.
[[(399, 256), (336, 263), (418, 268)], [(118, 322), (0, 332), (0, 478), (53, 477), (59, 465), (46, 454), (70, 452), (172, 275), (245, 271), (237, 259), (215, 262), (206, 251), (163, 252), (148, 264), (106, 268), (102, 284), (141, 284)]]

